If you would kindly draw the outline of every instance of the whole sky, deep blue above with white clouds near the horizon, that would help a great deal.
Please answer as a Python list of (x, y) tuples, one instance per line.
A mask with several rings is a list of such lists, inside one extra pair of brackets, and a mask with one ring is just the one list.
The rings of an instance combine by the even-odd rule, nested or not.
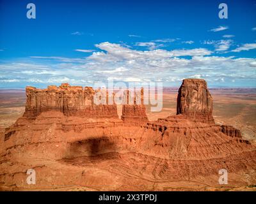
[[(36, 19), (26, 5), (36, 5)], [(228, 5), (228, 19), (218, 5)], [(256, 1), (0, 1), (0, 87), (256, 87)]]

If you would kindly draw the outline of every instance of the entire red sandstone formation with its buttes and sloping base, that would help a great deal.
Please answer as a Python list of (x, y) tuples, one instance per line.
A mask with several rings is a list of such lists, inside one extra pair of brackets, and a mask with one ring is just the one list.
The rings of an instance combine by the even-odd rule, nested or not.
[[(211, 191), (256, 184), (256, 147), (238, 129), (215, 124), (205, 80), (183, 80), (177, 115), (156, 121), (148, 121), (144, 105), (123, 105), (119, 118), (115, 104), (93, 103), (98, 91), (26, 87), (24, 115), (1, 133), (1, 191)], [(31, 168), (36, 184), (29, 185)], [(220, 169), (228, 171), (227, 185), (218, 183)]]

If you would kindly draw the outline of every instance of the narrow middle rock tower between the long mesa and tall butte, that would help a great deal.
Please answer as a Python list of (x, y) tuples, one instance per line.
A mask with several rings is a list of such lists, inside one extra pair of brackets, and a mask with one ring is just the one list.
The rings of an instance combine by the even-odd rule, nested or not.
[(134, 91), (133, 95), (132, 92), (129, 94), (128, 90), (124, 91), (121, 119), (124, 122), (147, 122), (148, 117), (143, 104), (143, 89)]

